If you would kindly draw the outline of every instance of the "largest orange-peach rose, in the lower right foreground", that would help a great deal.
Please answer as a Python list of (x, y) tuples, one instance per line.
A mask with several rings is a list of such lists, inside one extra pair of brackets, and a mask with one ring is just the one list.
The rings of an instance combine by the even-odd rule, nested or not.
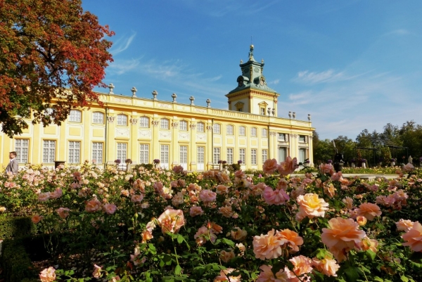
[(366, 236), (365, 231), (359, 230), (359, 224), (353, 219), (335, 217), (328, 221), (330, 228), (323, 228), (321, 241), (333, 253), (334, 257), (342, 262), (346, 257), (345, 253), (359, 244)]

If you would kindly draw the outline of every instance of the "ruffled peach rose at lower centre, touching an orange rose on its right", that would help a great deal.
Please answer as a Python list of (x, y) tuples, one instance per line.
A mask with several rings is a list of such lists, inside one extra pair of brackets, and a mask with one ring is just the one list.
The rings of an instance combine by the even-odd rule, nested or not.
[(286, 239), (274, 236), (274, 233), (274, 229), (271, 229), (267, 235), (253, 238), (253, 252), (257, 259), (276, 259), (281, 256), (281, 245), (286, 243)]

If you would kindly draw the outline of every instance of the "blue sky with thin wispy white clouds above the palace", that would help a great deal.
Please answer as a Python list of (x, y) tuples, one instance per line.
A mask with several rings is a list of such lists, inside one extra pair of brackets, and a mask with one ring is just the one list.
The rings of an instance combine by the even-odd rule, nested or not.
[[(240, 60), (264, 59), (278, 116), (321, 139), (422, 124), (422, 1), (83, 0), (111, 37), (114, 93), (228, 109)], [(108, 89), (96, 89), (108, 92)]]

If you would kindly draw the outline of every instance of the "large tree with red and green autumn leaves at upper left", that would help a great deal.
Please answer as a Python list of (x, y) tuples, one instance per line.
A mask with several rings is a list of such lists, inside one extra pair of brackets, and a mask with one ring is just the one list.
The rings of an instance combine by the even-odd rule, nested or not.
[(98, 101), (113, 36), (80, 0), (0, 0), (0, 124), (8, 136)]

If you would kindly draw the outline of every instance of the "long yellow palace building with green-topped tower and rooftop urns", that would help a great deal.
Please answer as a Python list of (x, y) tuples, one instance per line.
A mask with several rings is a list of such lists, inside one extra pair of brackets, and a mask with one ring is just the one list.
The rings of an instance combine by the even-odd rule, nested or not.
[[(277, 117), (279, 95), (269, 88), (263, 75), (264, 61), (255, 61), (250, 46), (248, 61), (241, 61), (236, 88), (226, 94), (229, 110), (161, 101), (152, 98), (100, 94), (103, 107), (72, 110), (60, 126), (31, 124), (13, 139), (0, 134), (1, 159), (8, 164), (8, 152), (16, 151), (20, 166), (27, 163), (53, 167), (56, 161), (80, 165), (88, 160), (98, 166), (133, 164), (160, 160), (161, 167), (181, 165), (187, 170), (211, 169), (219, 160), (229, 165), (242, 161), (242, 169), (262, 169), (268, 158), (279, 162), (286, 156), (312, 163), (312, 133), (307, 121)], [(290, 114), (289, 114), (290, 115)]]

